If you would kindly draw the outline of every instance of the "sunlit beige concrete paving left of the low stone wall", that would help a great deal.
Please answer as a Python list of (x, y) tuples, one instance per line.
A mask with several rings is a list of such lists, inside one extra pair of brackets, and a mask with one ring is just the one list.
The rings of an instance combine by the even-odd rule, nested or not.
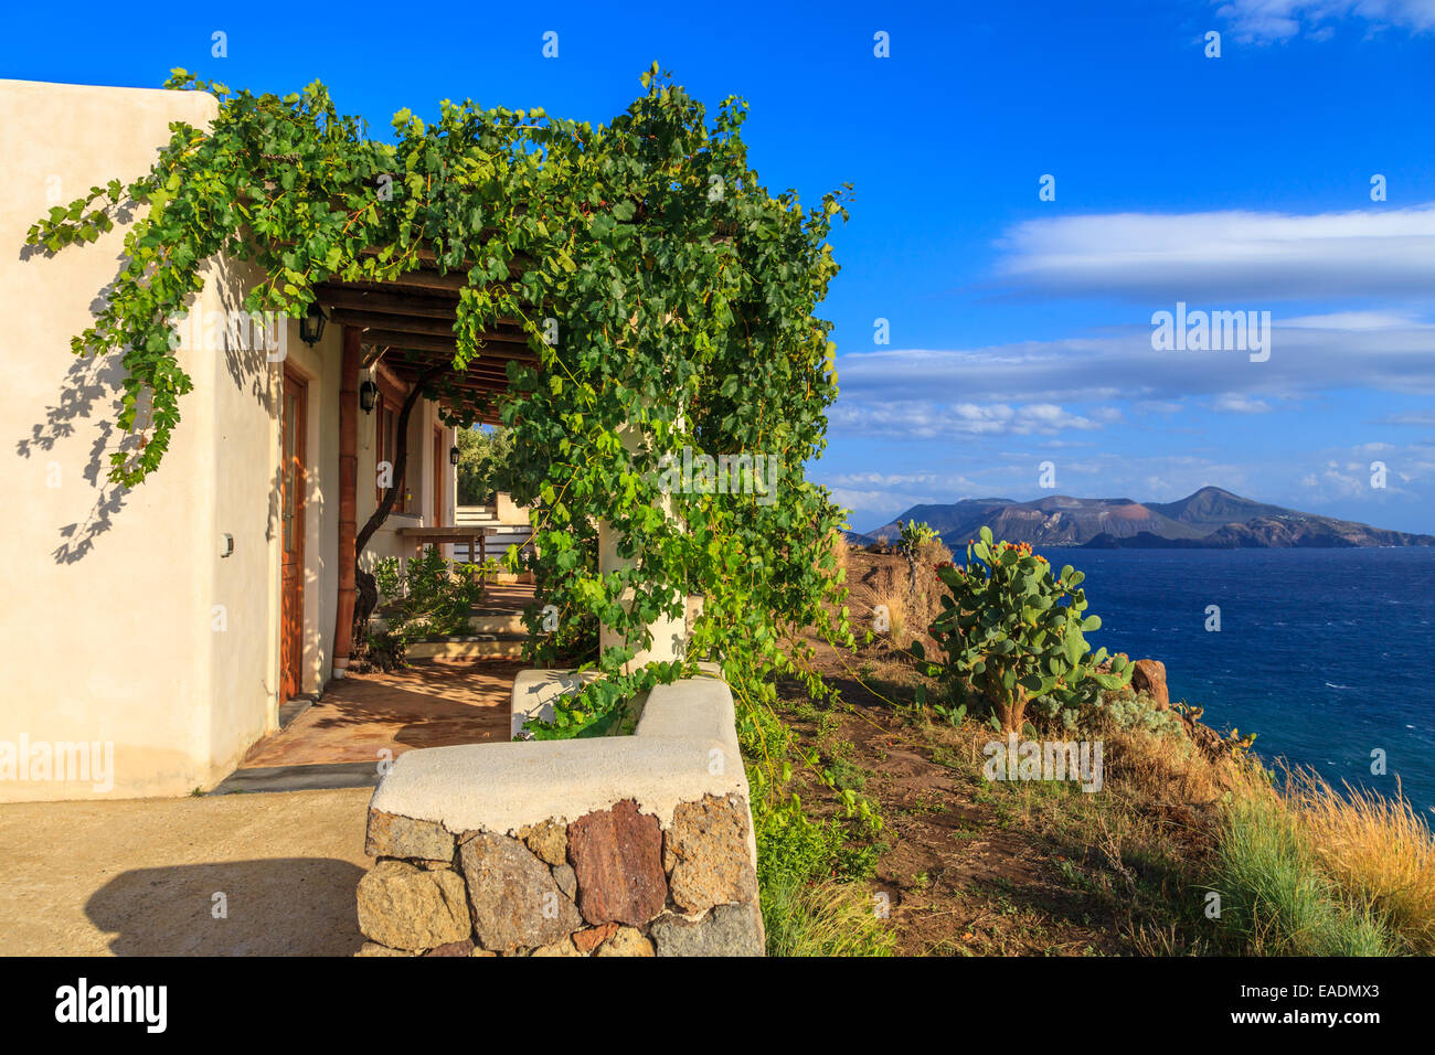
[(370, 794), (0, 805), (0, 956), (349, 956)]

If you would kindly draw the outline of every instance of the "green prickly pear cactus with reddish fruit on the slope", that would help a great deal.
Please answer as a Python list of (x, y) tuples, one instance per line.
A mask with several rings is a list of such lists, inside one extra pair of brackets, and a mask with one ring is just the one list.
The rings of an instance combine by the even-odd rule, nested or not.
[[(1004, 729), (1020, 732), (1032, 699), (1089, 702), (1099, 689), (1129, 683), (1131, 665), (1106, 650), (1092, 653), (1083, 632), (1101, 627), (1086, 616), (1085, 576), (1072, 568), (1052, 574), (1045, 557), (1026, 543), (993, 543), (992, 530), (967, 544), (964, 567), (943, 566), (947, 587), (931, 637), (944, 659), (928, 667), (953, 699), (976, 698), (990, 706)], [(913, 652), (924, 659), (920, 642)]]

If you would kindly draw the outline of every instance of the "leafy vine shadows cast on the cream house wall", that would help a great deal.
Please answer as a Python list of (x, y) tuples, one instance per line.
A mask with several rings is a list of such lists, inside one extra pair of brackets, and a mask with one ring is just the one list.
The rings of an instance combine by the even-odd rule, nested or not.
[[(116, 224), (129, 224), (133, 220), (136, 208), (135, 202), (126, 201), (121, 208), (112, 210), (112, 218)], [(82, 244), (69, 245), (62, 251), (83, 253), (86, 247)], [(19, 254), (22, 263), (33, 261), (32, 266), (34, 267), (43, 267), (46, 261), (56, 255), (56, 253), (36, 245), (23, 245)], [(121, 254), (115, 257), (115, 278), (99, 290), (90, 301), (89, 310), (92, 319), (98, 317), (109, 303), (115, 286), (125, 270), (128, 257)], [(214, 277), (215, 271), (211, 268), (211, 280)], [(237, 317), (234, 313), (243, 304), (244, 286), (234, 276), (227, 274), (221, 274), (217, 284), (220, 300), (224, 306), (222, 310), (228, 317)], [(191, 297), (188, 307), (192, 310), (197, 301), (198, 297)], [(75, 337), (79, 333), (69, 336)], [(214, 352), (224, 356), (225, 370), (234, 385), (241, 392), (248, 390), (260, 405), (267, 406), (268, 363), (264, 349), (253, 344), (244, 347), (230, 327), (222, 327), (217, 336), (218, 347)], [(197, 353), (199, 352), (191, 352), (191, 355)], [(76, 356), (66, 370), (65, 379), (60, 382), (56, 402), (44, 409), (43, 421), (30, 426), (30, 435), (16, 441), (16, 454), (22, 458), (32, 458), (55, 451), (62, 441), (76, 438), (76, 422), (95, 419), (89, 458), (82, 472), (85, 481), (95, 492), (95, 501), (83, 520), (60, 528), (60, 543), (50, 554), (56, 564), (73, 564), (83, 560), (95, 548), (95, 540), (113, 525), (115, 517), (119, 515), (129, 495), (129, 488), (113, 484), (109, 479), (110, 455), (115, 452), (129, 455), (142, 446), (139, 435), (121, 435), (115, 426), (123, 408), (125, 376), (126, 369), (122, 352), (110, 352), (99, 357), (92, 355)], [(181, 412), (184, 412), (184, 405), (181, 405)], [(142, 405), (138, 421), (145, 421), (145, 416), (146, 411)], [(276, 472), (270, 495), (271, 525), (278, 515), (278, 484), (280, 479)]]

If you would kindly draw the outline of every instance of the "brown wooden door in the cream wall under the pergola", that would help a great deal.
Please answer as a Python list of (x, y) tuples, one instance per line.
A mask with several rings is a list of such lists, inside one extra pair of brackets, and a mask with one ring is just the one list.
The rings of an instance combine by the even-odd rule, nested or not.
[(304, 655), (304, 422), (309, 386), (284, 372), (280, 445), (280, 700), (303, 692)]

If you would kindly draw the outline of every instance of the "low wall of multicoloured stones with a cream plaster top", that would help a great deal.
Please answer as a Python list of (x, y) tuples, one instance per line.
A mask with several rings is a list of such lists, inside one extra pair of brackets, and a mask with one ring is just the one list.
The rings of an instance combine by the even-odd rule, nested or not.
[(400, 755), (369, 807), (360, 956), (761, 956), (732, 696), (654, 689), (637, 733)]

